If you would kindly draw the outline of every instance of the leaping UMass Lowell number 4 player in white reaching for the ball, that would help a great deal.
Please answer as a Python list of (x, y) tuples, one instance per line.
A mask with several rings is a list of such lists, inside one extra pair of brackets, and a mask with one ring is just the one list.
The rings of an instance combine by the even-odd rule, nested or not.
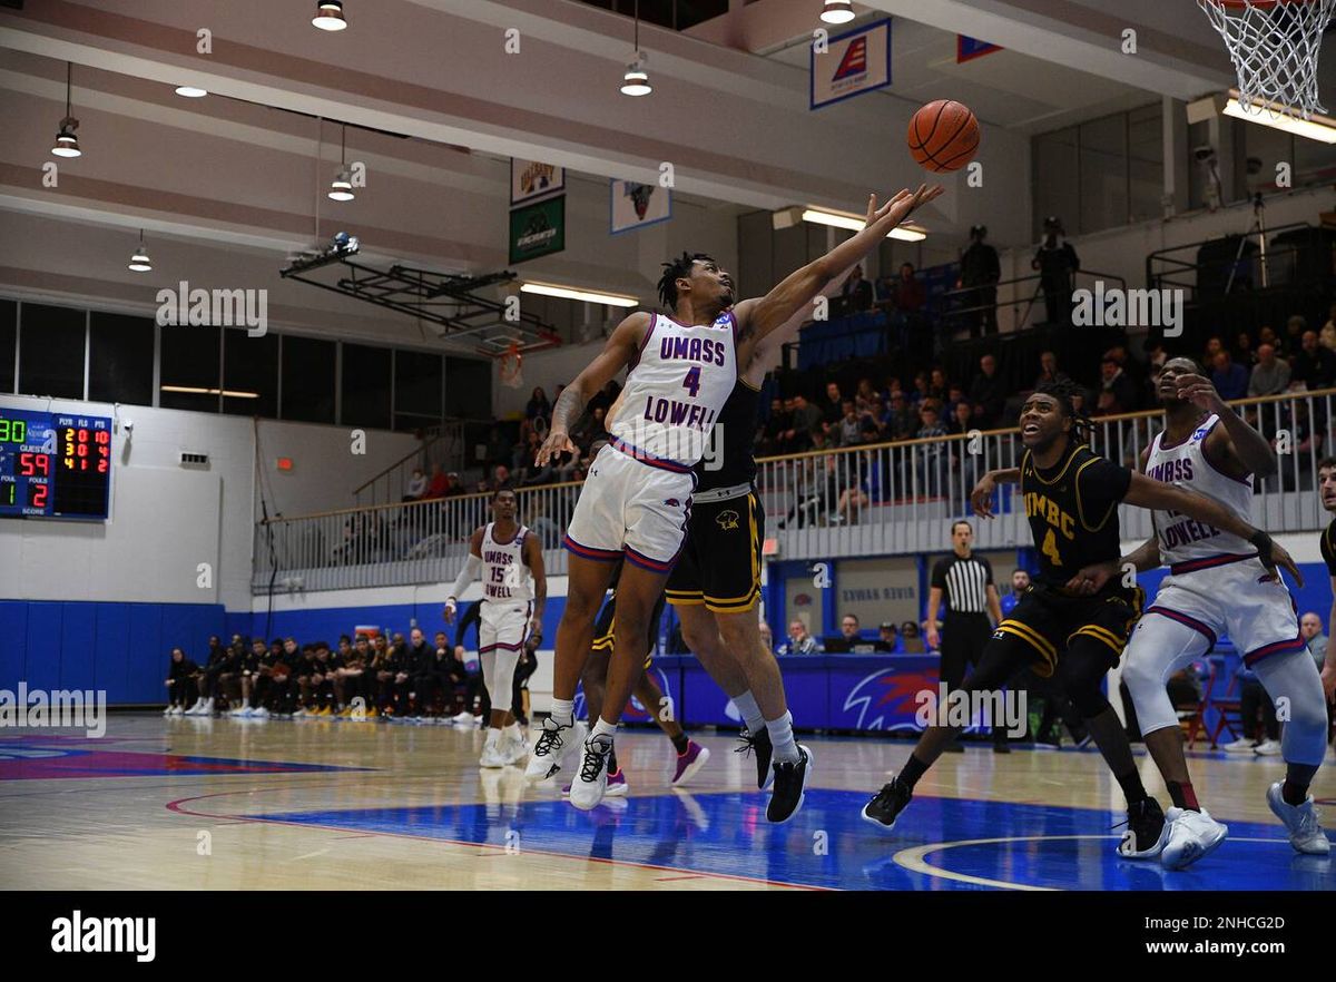
[(589, 397), (629, 369), (620, 412), (607, 424), (613, 440), (589, 468), (566, 530), (569, 579), (557, 628), (552, 715), (528, 768), (530, 778), (552, 778), (578, 746), (576, 685), (613, 564), (625, 560), (603, 716), (582, 744), (570, 787), (574, 807), (589, 810), (603, 799), (616, 720), (644, 671), (649, 615), (685, 536), (695, 488), (692, 468), (704, 454), (739, 366), (748, 365), (758, 342), (870, 253), (927, 194), (926, 188), (900, 191), (875, 210), (868, 227), (758, 299), (735, 303), (732, 281), (707, 255), (683, 254), (665, 263), (659, 297), (671, 315), (637, 311), (624, 319), (557, 399), (537, 454), (540, 466), (554, 454), (576, 452), (569, 433)]

